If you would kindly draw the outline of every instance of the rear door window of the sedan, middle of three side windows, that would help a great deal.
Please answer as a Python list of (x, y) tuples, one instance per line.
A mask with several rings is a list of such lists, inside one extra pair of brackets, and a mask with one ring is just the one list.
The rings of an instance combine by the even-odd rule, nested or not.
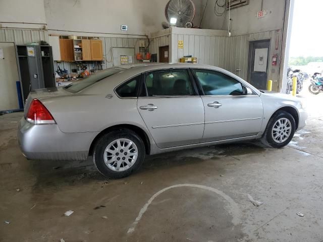
[(192, 83), (187, 70), (163, 70), (146, 74), (148, 96), (192, 96)]

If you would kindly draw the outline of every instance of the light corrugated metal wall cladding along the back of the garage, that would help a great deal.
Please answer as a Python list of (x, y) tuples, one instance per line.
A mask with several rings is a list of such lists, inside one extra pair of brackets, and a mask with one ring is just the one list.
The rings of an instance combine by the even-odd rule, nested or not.
[[(199, 64), (212, 65), (224, 68), (241, 78), (247, 80), (248, 76), (248, 54), (249, 42), (261, 39), (271, 39), (270, 48), (270, 62), (275, 53), (281, 52), (282, 35), (279, 32), (267, 31), (254, 34), (246, 34), (233, 37), (224, 36), (203, 36), (203, 35), (186, 35), (186, 34), (172, 34), (165, 35), (150, 40), (150, 53), (157, 53), (157, 60), (159, 60), (159, 47), (170, 46), (170, 61), (178, 62), (178, 58), (183, 55), (192, 55), (197, 57)], [(279, 47), (276, 50), (276, 38), (279, 34)], [(115, 38), (102, 37), (103, 41), (103, 57), (105, 64), (103, 68), (112, 66), (112, 48), (113, 47), (132, 47), (135, 48), (135, 53), (139, 51), (139, 38)], [(32, 42), (39, 42), (40, 40), (48, 41), (48, 32), (43, 30), (28, 30), (28, 29), (0, 29), (0, 42), (15, 42), (16, 44), (27, 44)], [(184, 48), (178, 48), (178, 40), (184, 41)], [(147, 45), (147, 40), (146, 45)], [(280, 59), (280, 56), (279, 58)], [(134, 59), (136, 63), (136, 59)], [(55, 63), (55, 70), (57, 65), (65, 68), (71, 73), (71, 69), (76, 69), (73, 63)], [(273, 89), (278, 87), (279, 67), (272, 66), (269, 63), (268, 80), (273, 80)], [(93, 67), (89, 67), (91, 69)], [(241, 71), (238, 71), (241, 70)]]

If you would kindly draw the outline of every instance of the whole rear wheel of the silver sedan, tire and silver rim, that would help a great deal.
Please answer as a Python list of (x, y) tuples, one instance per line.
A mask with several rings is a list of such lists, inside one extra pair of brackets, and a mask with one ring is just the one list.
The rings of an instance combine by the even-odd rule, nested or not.
[(94, 148), (93, 162), (106, 177), (122, 178), (140, 168), (145, 146), (132, 130), (121, 129), (103, 135)]

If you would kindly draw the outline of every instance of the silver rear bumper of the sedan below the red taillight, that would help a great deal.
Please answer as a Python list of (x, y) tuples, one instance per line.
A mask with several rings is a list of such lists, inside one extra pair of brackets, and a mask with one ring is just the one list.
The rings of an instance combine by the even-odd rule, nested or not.
[(86, 160), (98, 132), (63, 133), (57, 125), (32, 125), (23, 117), (18, 143), (28, 159)]

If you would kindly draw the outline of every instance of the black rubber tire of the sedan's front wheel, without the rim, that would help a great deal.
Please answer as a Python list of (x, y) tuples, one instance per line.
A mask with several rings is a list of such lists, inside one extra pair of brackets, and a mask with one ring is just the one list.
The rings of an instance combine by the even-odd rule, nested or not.
[[(273, 127), (275, 125), (275, 123), (277, 122), (278, 119), (280, 118), (287, 118), (290, 122), (291, 122), (291, 133), (290, 136), (288, 137), (288, 139), (283, 142), (283, 143), (278, 143), (276, 142), (273, 137), (272, 137), (272, 130)], [(293, 139), (294, 137), (294, 133), (295, 133), (295, 119), (294, 117), (286, 112), (286, 111), (277, 111), (269, 120), (267, 127), (262, 135), (261, 138), (261, 142), (266, 145), (266, 146), (270, 146), (273, 148), (282, 148), (286, 145), (288, 145), (288, 143)]]

